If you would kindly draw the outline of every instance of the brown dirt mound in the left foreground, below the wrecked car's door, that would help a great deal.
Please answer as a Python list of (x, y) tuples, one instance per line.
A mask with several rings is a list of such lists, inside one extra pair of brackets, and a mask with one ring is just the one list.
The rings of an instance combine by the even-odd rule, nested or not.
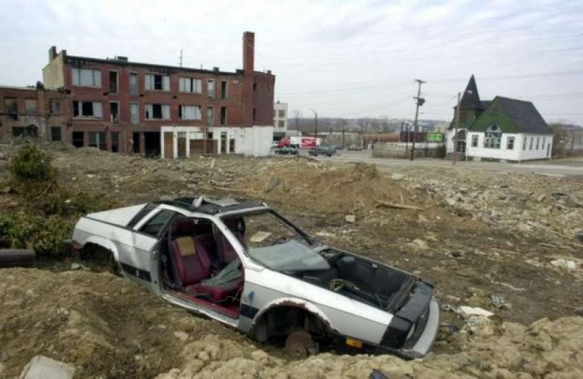
[(109, 273), (0, 275), (0, 378), (18, 376), (37, 354), (75, 365), (83, 378), (152, 378), (182, 362), (182, 347), (209, 332), (244, 339)]

